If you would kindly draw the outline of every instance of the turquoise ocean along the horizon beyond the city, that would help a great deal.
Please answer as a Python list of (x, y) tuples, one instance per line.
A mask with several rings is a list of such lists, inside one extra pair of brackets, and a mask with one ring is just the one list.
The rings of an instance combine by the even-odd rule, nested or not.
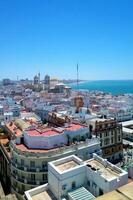
[(100, 81), (86, 81), (77, 84), (71, 84), (74, 90), (83, 91), (102, 91), (105, 93), (111, 93), (113, 95), (118, 94), (133, 94), (133, 80), (100, 80)]

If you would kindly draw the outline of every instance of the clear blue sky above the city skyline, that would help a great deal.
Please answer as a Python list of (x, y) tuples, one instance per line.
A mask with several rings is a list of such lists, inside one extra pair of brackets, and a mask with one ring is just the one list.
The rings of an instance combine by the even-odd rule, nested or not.
[(1, 0), (0, 79), (133, 79), (132, 0)]

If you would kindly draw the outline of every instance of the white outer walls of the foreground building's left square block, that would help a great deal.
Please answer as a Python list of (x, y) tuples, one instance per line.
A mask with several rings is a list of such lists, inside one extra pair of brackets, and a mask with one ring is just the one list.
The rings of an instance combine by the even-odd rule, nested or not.
[[(83, 186), (86, 181), (86, 166), (79, 165), (78, 167), (67, 170), (59, 174), (52, 167), (48, 168), (48, 182), (51, 191), (54, 193), (57, 199), (61, 199), (66, 195), (68, 191), (72, 190), (72, 183), (76, 183), (76, 188)], [(65, 190), (62, 188), (66, 186)]]

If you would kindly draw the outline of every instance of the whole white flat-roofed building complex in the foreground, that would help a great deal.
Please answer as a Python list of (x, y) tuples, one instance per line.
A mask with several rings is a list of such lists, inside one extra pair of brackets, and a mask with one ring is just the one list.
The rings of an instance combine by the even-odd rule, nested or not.
[(127, 182), (127, 172), (96, 154), (84, 162), (71, 155), (50, 162), (48, 183), (26, 191), (25, 195), (27, 200), (89, 200), (113, 191)]

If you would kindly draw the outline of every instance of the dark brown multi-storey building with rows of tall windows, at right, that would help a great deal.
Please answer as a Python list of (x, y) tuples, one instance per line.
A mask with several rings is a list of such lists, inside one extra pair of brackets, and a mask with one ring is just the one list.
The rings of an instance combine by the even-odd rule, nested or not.
[(113, 163), (123, 158), (122, 125), (115, 119), (92, 119), (88, 123), (91, 133), (100, 138), (102, 156)]

